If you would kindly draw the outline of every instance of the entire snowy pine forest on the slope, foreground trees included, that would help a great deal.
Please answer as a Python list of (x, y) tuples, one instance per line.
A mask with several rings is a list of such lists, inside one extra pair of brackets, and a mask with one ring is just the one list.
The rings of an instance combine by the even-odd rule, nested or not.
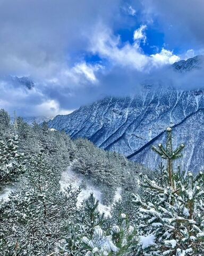
[[(72, 141), (46, 123), (17, 123), (14, 131), (0, 111), (0, 186), (16, 186), (0, 201), (0, 255), (204, 254), (204, 175), (174, 170), (184, 145), (173, 150), (171, 129), (166, 147), (153, 148), (167, 165), (160, 164), (152, 179), (141, 166), (87, 140)], [(107, 204), (122, 187), (109, 217), (92, 194), (77, 207), (80, 188), (61, 190), (61, 173), (70, 164), (85, 181), (105, 187)]]

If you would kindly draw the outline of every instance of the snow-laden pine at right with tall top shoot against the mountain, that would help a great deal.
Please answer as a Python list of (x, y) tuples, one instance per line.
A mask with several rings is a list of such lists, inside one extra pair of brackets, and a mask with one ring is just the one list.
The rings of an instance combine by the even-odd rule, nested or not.
[[(203, 173), (183, 175), (173, 172), (173, 160), (181, 157), (184, 145), (172, 150), (172, 134), (167, 129), (166, 150), (153, 148), (167, 159), (167, 184), (141, 174), (146, 195), (134, 195), (139, 205), (140, 246), (138, 255), (201, 256), (204, 253)], [(145, 192), (144, 192), (145, 193)]]

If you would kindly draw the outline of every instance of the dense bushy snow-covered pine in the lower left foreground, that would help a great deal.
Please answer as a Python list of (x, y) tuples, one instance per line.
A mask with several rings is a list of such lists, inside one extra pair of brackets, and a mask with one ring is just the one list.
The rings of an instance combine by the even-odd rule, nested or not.
[(31, 157), (22, 188), (0, 207), (0, 249), (7, 255), (47, 255), (66, 235), (80, 190), (60, 189), (60, 173), (43, 154)]

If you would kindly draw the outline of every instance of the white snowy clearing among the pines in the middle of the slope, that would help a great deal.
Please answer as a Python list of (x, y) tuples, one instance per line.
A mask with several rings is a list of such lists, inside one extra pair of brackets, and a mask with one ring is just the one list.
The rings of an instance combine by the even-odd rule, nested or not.
[[(81, 185), (81, 181), (84, 180), (84, 176), (82, 174), (73, 172), (71, 168), (72, 166), (69, 166), (67, 170), (62, 173), (62, 178), (60, 181), (62, 189), (70, 185), (72, 185), (73, 188), (79, 188), (79, 186)], [(105, 215), (110, 215), (111, 207), (100, 203), (101, 201), (100, 190), (95, 186), (93, 186), (91, 182), (87, 180), (86, 180), (86, 184), (87, 184), (87, 188), (82, 189), (81, 193), (79, 194), (77, 206), (80, 206), (83, 200), (87, 199), (90, 193), (93, 193), (95, 198), (99, 200), (99, 211), (104, 212)], [(114, 201), (117, 201), (118, 199), (121, 198), (120, 194), (121, 194), (121, 189), (117, 188)]]

